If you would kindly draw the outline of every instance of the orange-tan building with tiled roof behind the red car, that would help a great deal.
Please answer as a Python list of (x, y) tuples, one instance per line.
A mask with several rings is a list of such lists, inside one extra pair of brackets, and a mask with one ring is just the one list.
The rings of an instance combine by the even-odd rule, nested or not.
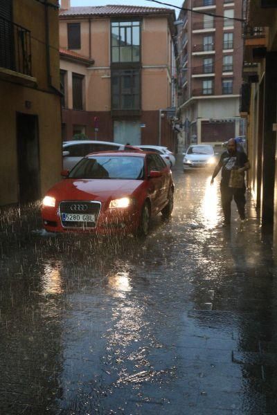
[(175, 149), (175, 12), (139, 6), (60, 10), (63, 139)]

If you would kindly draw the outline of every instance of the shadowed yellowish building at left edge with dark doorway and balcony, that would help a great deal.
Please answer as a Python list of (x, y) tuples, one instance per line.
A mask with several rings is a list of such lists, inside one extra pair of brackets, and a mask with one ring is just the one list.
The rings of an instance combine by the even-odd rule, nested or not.
[(0, 2), (0, 205), (39, 199), (60, 178), (58, 4)]

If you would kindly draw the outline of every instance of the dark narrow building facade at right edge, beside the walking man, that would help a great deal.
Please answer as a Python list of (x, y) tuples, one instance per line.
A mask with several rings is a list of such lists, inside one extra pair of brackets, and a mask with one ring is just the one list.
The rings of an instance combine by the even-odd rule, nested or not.
[(277, 2), (244, 0), (241, 115), (247, 120), (249, 185), (262, 225), (277, 241)]

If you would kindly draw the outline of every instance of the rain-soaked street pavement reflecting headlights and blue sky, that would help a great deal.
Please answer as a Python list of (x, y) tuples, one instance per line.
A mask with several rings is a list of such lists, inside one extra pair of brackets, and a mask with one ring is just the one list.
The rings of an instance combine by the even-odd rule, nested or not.
[(250, 194), (172, 169), (145, 239), (46, 234), (2, 208), (0, 414), (276, 414), (276, 265)]

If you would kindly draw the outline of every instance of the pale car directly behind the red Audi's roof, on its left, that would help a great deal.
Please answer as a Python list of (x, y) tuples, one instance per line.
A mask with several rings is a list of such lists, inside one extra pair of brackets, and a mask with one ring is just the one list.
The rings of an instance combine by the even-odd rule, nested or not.
[[(78, 161), (89, 153), (96, 151), (125, 150), (127, 147), (118, 142), (96, 140), (71, 140), (62, 143), (64, 170), (71, 170)], [(134, 147), (132, 147), (134, 148)]]

